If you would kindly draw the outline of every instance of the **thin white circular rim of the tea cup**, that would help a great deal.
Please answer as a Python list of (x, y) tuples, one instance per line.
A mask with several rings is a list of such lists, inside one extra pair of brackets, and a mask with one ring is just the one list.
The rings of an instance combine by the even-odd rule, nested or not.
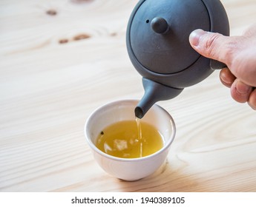
[(92, 142), (92, 140), (89, 138), (90, 135), (89, 135), (89, 131), (87, 129), (86, 126), (88, 126), (88, 123), (91, 121), (91, 119), (93, 118), (93, 115), (101, 110), (101, 109), (104, 109), (105, 107), (109, 106), (109, 105), (113, 105), (113, 104), (118, 104), (118, 103), (123, 103), (123, 102), (136, 102), (138, 103), (140, 100), (137, 100), (137, 99), (121, 99), (121, 100), (116, 100), (116, 101), (110, 101), (102, 106), (99, 106), (97, 107), (96, 109), (93, 110), (93, 112), (91, 112), (91, 114), (88, 116), (88, 119), (85, 121), (85, 129), (84, 129), (84, 132), (85, 132), (85, 139), (87, 140), (87, 143), (89, 144), (89, 146), (91, 147), (91, 149), (93, 149), (94, 152), (97, 152), (99, 155), (102, 155), (103, 157), (107, 157), (111, 160), (117, 160), (117, 161), (121, 161), (121, 162), (134, 162), (134, 161), (142, 161), (142, 160), (148, 160), (150, 159), (151, 157), (155, 157), (159, 154), (161, 154), (162, 152), (164, 152), (166, 149), (168, 149), (169, 146), (171, 146), (171, 143), (174, 141), (174, 138), (175, 138), (175, 135), (176, 135), (176, 125), (175, 125), (175, 122), (174, 122), (174, 119), (171, 117), (171, 115), (165, 110), (163, 109), (162, 106), (159, 106), (158, 104), (154, 104), (152, 107), (157, 107), (159, 108), (160, 110), (162, 110), (163, 112), (165, 112), (166, 115), (168, 115), (168, 118), (170, 119), (171, 121), (171, 129), (172, 129), (172, 133), (171, 133), (171, 138), (168, 140), (167, 143), (165, 143), (165, 145), (160, 149), (158, 150), (157, 152), (154, 152), (153, 154), (151, 155), (147, 155), (145, 157), (137, 157), (137, 158), (123, 158), (123, 157), (115, 157), (113, 155), (108, 155), (107, 153), (105, 152), (102, 152), (100, 149), (98, 149), (95, 144)]

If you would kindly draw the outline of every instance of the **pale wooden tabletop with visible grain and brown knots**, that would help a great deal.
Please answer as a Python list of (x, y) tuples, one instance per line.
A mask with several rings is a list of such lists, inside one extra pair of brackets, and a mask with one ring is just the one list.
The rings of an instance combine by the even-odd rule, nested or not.
[[(255, 0), (222, 2), (232, 35), (256, 21)], [(256, 113), (218, 72), (159, 103), (177, 136), (155, 174), (124, 182), (93, 160), (88, 115), (143, 93), (125, 47), (136, 3), (0, 1), (0, 191), (256, 191)]]

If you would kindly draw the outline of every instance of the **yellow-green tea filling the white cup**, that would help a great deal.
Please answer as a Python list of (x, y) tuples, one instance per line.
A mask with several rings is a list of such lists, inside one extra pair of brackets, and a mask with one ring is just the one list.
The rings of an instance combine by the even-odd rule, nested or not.
[(114, 157), (145, 157), (163, 147), (163, 136), (154, 126), (140, 119), (119, 121), (99, 133), (96, 147)]

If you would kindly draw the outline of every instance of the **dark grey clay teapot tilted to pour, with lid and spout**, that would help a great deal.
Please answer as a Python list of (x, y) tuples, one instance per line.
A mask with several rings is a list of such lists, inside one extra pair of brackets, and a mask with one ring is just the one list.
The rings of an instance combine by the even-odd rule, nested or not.
[(141, 0), (134, 7), (126, 44), (145, 89), (137, 118), (157, 101), (176, 97), (224, 67), (193, 50), (188, 38), (196, 29), (229, 35), (229, 19), (219, 0)]

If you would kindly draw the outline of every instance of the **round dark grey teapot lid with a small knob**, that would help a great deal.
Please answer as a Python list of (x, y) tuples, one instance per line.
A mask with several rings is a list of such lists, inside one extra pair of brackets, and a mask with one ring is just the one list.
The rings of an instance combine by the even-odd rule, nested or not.
[(209, 12), (201, 0), (140, 1), (128, 24), (128, 47), (145, 69), (173, 74), (200, 58), (188, 41), (198, 28), (211, 30)]

